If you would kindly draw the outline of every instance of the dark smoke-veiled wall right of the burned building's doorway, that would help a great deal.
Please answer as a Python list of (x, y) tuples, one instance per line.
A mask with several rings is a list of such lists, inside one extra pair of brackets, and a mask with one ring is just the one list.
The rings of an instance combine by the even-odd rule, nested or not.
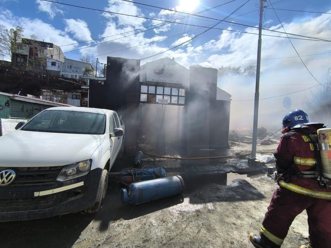
[(185, 126), (190, 148), (228, 147), (230, 101), (216, 100), (217, 70), (190, 66)]

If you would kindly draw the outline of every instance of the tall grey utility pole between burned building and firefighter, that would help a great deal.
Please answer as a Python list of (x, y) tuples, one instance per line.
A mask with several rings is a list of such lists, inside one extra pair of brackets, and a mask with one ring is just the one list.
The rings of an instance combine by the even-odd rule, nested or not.
[(258, 138), (258, 115), (259, 115), (259, 88), (260, 88), (260, 66), (261, 66), (261, 45), (262, 45), (262, 15), (263, 3), (266, 0), (260, 0), (260, 24), (259, 24), (259, 40), (258, 40), (258, 59), (256, 64), (256, 83), (255, 83), (255, 100), (254, 100), (254, 121), (253, 121), (253, 144), (252, 144), (252, 159), (256, 157), (256, 143)]

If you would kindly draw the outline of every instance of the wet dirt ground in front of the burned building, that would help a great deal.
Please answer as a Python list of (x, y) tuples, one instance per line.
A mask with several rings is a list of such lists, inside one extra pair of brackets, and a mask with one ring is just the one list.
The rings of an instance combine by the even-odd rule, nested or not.
[[(235, 153), (250, 145), (231, 146), (229, 150)], [(262, 148), (274, 149), (275, 145), (258, 150)], [(151, 157), (143, 162), (166, 167), (167, 176), (181, 175), (184, 192), (132, 206), (121, 204), (121, 186), (110, 180), (103, 208), (95, 215), (77, 213), (0, 223), (0, 247), (253, 247), (248, 234), (259, 232), (277, 185), (264, 173), (233, 173), (249, 169), (247, 158), (220, 159), (218, 163), (199, 160), (194, 162), (198, 172), (193, 170), (193, 162)], [(193, 173), (188, 173), (190, 170)], [(307, 236), (307, 215), (302, 213), (282, 247), (298, 248), (307, 244)]]

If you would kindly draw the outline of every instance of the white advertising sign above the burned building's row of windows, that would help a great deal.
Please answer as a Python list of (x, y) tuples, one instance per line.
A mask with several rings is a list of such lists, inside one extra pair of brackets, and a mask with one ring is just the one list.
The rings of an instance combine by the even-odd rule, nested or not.
[(146, 81), (162, 82), (162, 83), (183, 83), (183, 68), (182, 66), (146, 63)]

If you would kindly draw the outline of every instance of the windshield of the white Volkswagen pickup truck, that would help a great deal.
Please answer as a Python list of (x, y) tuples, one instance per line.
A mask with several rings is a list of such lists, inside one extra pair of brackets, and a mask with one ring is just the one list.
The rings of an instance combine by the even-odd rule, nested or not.
[(45, 110), (32, 118), (21, 130), (68, 133), (104, 134), (106, 115), (67, 110)]

